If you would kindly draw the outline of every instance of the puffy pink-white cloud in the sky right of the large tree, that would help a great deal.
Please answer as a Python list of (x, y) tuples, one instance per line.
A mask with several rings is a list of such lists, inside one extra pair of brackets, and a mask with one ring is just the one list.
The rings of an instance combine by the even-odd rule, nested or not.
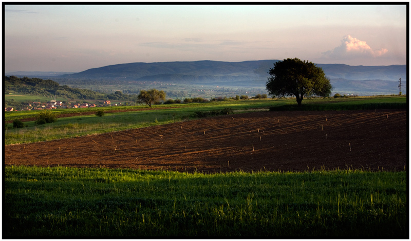
[(339, 47), (323, 52), (329, 58), (380, 57), (388, 52), (387, 49), (373, 50), (365, 41), (346, 35)]

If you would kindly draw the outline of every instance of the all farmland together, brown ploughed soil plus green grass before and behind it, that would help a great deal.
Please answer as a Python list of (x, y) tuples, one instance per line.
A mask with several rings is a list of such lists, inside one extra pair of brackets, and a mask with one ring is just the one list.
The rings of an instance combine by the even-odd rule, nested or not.
[(267, 111), (288, 103), (73, 115), (46, 142), (25, 122), (5, 136), (6, 235), (408, 237), (407, 111)]

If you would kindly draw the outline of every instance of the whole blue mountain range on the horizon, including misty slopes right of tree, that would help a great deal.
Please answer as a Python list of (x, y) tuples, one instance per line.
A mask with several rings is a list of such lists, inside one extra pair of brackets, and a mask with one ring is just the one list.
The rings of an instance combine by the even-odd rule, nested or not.
[[(60, 79), (116, 79), (139, 82), (172, 82), (221, 86), (265, 87), (267, 73), (276, 59), (245, 62), (158, 62), (128, 63), (88, 69), (79, 73), (57, 75)], [(349, 66), (316, 64), (330, 79), (334, 91), (351, 93), (398, 93), (398, 79), (406, 86), (407, 66)], [(49, 72), (50, 73), (50, 72)], [(40, 76), (40, 75), (39, 75)], [(31, 75), (31, 77), (34, 77)], [(45, 77), (45, 75), (42, 75)], [(403, 88), (405, 93), (406, 88)]]

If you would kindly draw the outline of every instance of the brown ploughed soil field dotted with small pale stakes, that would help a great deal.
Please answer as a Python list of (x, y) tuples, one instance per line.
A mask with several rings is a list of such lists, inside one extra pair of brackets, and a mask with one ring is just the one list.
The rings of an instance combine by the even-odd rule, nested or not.
[(5, 165), (205, 173), (407, 170), (407, 112), (278, 111), (5, 146)]

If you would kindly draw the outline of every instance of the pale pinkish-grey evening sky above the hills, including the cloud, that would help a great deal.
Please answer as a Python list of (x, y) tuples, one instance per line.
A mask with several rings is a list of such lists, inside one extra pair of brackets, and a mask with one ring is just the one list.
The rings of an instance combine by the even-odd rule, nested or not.
[(406, 5), (4, 6), (4, 71), (125, 63), (300, 58), (407, 64)]

